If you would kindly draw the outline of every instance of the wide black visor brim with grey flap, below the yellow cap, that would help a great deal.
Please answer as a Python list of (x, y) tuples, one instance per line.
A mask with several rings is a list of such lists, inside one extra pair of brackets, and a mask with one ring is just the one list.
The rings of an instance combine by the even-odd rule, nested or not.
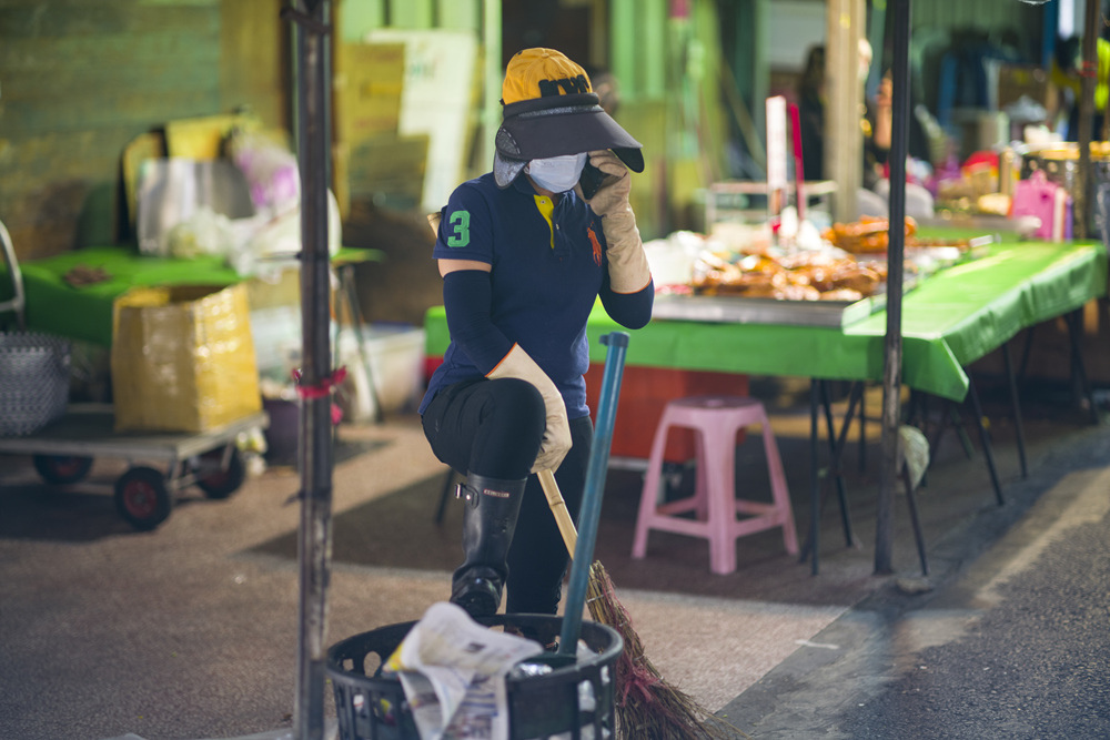
[(506, 104), (494, 144), (498, 187), (507, 187), (531, 160), (598, 149), (612, 149), (633, 172), (644, 171), (643, 145), (605, 112), (592, 92)]

